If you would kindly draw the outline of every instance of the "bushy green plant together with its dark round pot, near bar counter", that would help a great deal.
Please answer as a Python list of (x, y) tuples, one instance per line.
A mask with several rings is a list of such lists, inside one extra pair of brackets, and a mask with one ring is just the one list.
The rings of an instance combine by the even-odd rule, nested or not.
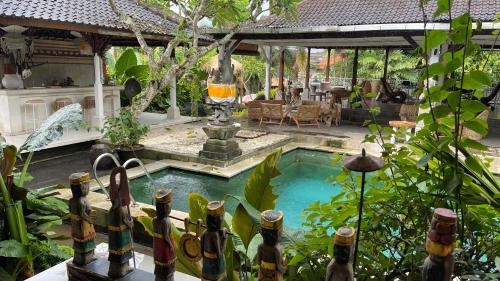
[(139, 142), (149, 133), (149, 126), (141, 124), (130, 110), (122, 109), (117, 117), (106, 118), (101, 132), (125, 163), (137, 158), (137, 153), (144, 149)]

